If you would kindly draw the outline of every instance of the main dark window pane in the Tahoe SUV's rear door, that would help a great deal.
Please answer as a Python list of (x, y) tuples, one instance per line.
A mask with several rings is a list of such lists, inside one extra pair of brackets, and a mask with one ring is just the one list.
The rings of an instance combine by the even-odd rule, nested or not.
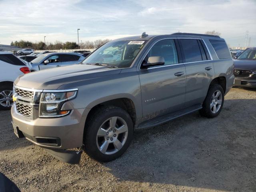
[(202, 55), (196, 39), (180, 39), (185, 62), (202, 61)]

